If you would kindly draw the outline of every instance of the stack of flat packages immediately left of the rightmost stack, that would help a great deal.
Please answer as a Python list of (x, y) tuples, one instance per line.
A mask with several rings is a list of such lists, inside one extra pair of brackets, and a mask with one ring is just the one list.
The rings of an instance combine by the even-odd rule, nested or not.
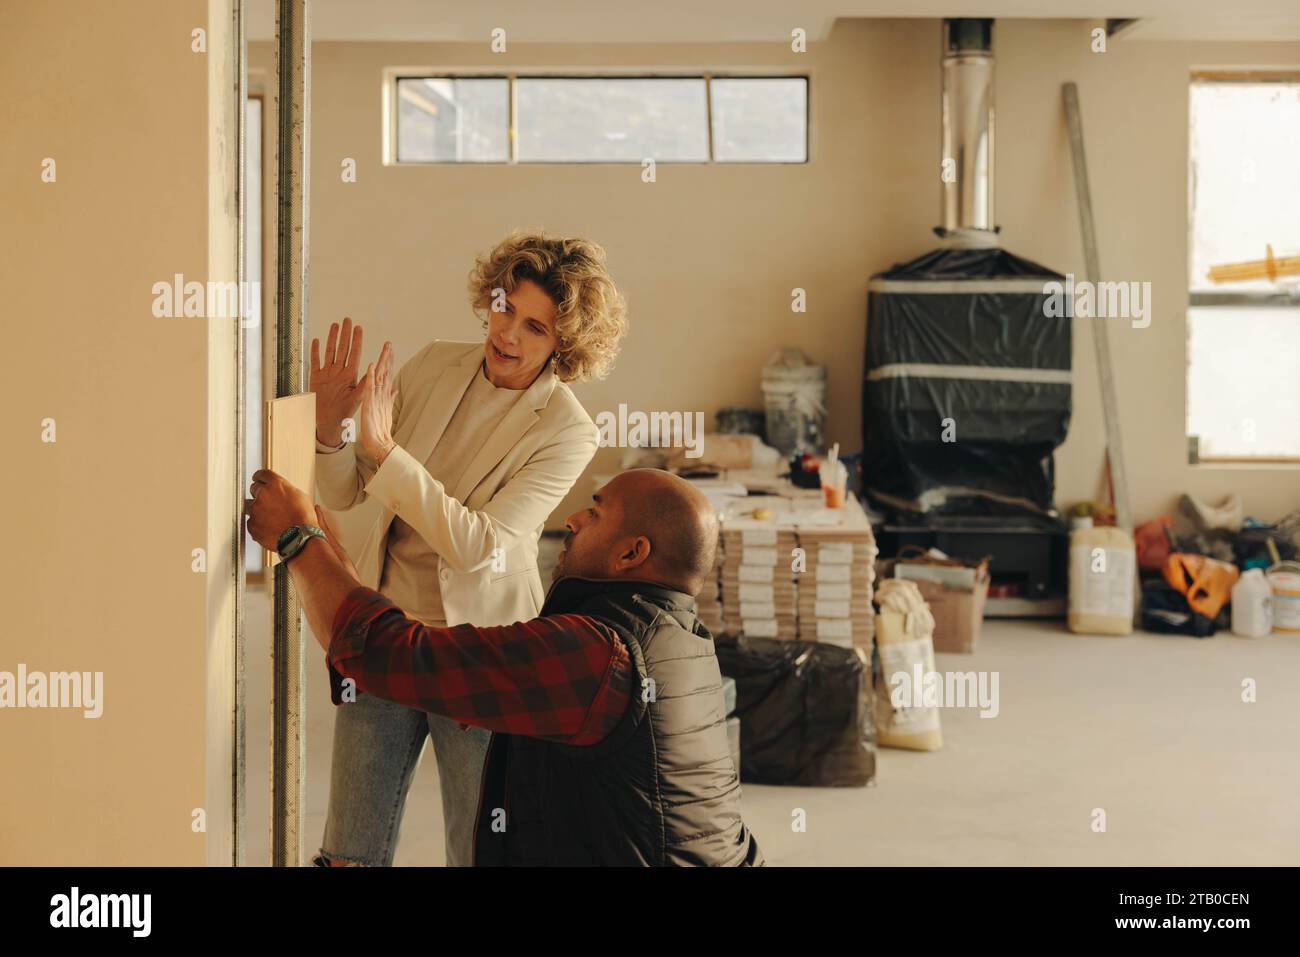
[(723, 631), (736, 637), (794, 641), (794, 527), (737, 518), (723, 521), (722, 538)]

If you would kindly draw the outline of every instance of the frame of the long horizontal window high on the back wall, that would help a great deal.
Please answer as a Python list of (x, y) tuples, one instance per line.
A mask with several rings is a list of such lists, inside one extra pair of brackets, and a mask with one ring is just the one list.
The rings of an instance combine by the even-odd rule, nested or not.
[[(384, 75), (384, 165), (385, 166), (637, 166), (644, 159), (654, 159), (656, 164), (673, 166), (803, 166), (812, 161), (812, 75), (807, 70), (786, 73), (762, 70), (710, 70), (710, 72), (664, 72), (664, 70), (476, 70), (476, 69), (433, 69), (433, 68), (389, 68)], [(508, 156), (504, 160), (399, 160), (398, 124), (399, 101), (398, 82), (403, 79), (504, 79), (508, 103), (507, 143)], [(707, 160), (660, 160), (644, 157), (637, 160), (520, 160), (517, 135), (519, 96), (516, 81), (520, 79), (702, 79), (705, 83), (705, 125), (708, 143)], [(803, 81), (803, 159), (802, 160), (718, 160), (714, 159), (714, 79), (798, 79)]]

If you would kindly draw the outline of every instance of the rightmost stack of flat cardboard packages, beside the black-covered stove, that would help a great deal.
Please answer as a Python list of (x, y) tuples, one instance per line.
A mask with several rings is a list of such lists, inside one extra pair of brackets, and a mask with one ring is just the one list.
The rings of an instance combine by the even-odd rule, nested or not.
[(831, 512), (836, 524), (824, 521), (827, 512), (831, 510), (818, 514), (818, 521), (797, 525), (807, 562), (797, 576), (800, 640), (870, 649), (876, 538), (855, 498), (846, 498), (844, 508)]

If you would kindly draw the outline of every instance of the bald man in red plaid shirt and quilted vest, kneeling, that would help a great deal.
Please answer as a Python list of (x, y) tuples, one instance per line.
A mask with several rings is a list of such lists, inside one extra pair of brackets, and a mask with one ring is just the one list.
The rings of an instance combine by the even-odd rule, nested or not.
[(376, 694), (494, 732), (476, 865), (763, 863), (696, 616), (718, 542), (698, 489), (618, 475), (566, 520), (541, 616), (486, 628), (430, 628), (361, 586), (324, 512), (276, 473), (251, 494), (248, 531), (289, 563), (335, 705)]

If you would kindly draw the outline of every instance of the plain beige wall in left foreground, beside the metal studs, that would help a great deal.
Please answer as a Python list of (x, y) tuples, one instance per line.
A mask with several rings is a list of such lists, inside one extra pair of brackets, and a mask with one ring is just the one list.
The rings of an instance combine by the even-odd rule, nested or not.
[(229, 861), (233, 326), (151, 311), (229, 268), (228, 29), (229, 0), (0, 5), (0, 670), (104, 672), (98, 719), (0, 711), (0, 863)]

